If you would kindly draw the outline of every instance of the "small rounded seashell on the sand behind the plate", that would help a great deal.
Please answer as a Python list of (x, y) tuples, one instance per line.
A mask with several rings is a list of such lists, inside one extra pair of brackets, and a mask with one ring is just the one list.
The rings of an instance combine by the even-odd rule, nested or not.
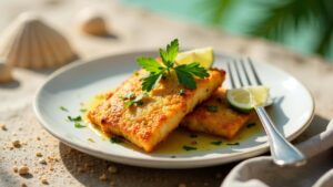
[(79, 29), (93, 35), (107, 35), (109, 33), (107, 22), (99, 10), (87, 8), (77, 15)]

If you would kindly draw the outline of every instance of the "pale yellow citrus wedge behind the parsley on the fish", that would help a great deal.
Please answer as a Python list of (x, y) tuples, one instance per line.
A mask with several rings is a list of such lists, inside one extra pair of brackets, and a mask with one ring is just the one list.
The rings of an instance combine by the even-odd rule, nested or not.
[(175, 63), (179, 65), (198, 62), (201, 66), (203, 66), (206, 70), (209, 70), (212, 66), (213, 61), (214, 51), (211, 46), (185, 51), (179, 53), (175, 58)]

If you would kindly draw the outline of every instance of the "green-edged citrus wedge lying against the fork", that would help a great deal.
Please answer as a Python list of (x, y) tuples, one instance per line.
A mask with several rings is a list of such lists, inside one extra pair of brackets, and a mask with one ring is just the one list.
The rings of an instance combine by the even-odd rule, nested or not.
[(266, 103), (270, 91), (265, 86), (248, 86), (226, 91), (226, 100), (231, 106), (241, 111), (250, 112), (255, 106)]

